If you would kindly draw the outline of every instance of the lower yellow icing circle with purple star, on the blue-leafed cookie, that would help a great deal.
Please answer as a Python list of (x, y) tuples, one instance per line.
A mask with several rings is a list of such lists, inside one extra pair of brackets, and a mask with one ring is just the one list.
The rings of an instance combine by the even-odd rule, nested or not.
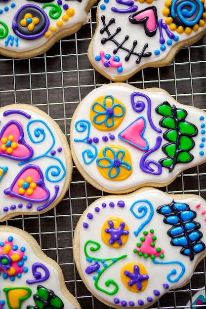
[(129, 291), (139, 293), (146, 289), (149, 276), (142, 264), (129, 263), (122, 268), (121, 279)]

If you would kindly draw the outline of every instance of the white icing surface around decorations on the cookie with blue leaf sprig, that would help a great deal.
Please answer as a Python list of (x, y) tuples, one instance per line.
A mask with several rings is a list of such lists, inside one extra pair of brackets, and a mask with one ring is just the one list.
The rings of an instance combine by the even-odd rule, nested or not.
[[(80, 257), (77, 266), (82, 279), (98, 299), (103, 303), (109, 303), (114, 308), (147, 308), (151, 306), (168, 290), (185, 285), (192, 276), (197, 263), (206, 254), (206, 250), (195, 254), (193, 260), (190, 260), (189, 256), (180, 254), (182, 246), (171, 245), (171, 237), (167, 234), (168, 230), (172, 228), (172, 224), (165, 224), (163, 222), (164, 215), (157, 212), (158, 207), (172, 203), (172, 201), (188, 204), (190, 210), (197, 214), (193, 220), (201, 224), (200, 231), (203, 233), (201, 241), (206, 243), (206, 219), (204, 215), (206, 202), (195, 195), (179, 194), (175, 196), (153, 188), (146, 189), (140, 189), (128, 195), (104, 196), (96, 200), (85, 210), (76, 228), (74, 253), (76, 263)], [(119, 206), (119, 201), (124, 202), (124, 207)], [(128, 226), (127, 242), (119, 248), (109, 247), (102, 241), (102, 227), (109, 218), (120, 218)], [(138, 256), (137, 253), (133, 252), (136, 243), (141, 242), (140, 237), (146, 238), (143, 231), (149, 232), (151, 229), (154, 230), (154, 234), (157, 236), (155, 246), (164, 250), (165, 257), (163, 259), (156, 257), (152, 260), (150, 257)], [(137, 231), (138, 234), (135, 236), (134, 232)], [(97, 245), (91, 242), (85, 245), (89, 240), (99, 243), (100, 248), (97, 249)], [(115, 242), (117, 243), (117, 240)], [(92, 257), (92, 260), (86, 259), (84, 246), (86, 247), (86, 253)], [(80, 251), (78, 247), (80, 247)], [(96, 250), (90, 250), (92, 247)], [(123, 255), (126, 255), (126, 257), (109, 267), (113, 259)], [(106, 261), (106, 259), (109, 260)], [(100, 265), (98, 271), (105, 268), (98, 282), (96, 282), (96, 277), (99, 275), (97, 271), (89, 274), (85, 272), (89, 266), (95, 263)], [(147, 270), (149, 279), (144, 291), (132, 292), (124, 286), (121, 279), (121, 270), (128, 263), (140, 263)], [(107, 264), (108, 269), (104, 264)], [(130, 279), (128, 277), (128, 281)], [(118, 291), (116, 293), (108, 295), (105, 292), (112, 293), (115, 290), (114, 284), (107, 285), (105, 283), (107, 280), (114, 280), (117, 283)], [(95, 284), (104, 291), (99, 290)], [(159, 293), (156, 291), (159, 291)]]

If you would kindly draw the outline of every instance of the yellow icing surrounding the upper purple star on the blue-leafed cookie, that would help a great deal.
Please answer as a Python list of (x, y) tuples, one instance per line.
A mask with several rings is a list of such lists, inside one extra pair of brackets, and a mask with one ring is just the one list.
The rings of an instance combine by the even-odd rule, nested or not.
[[(112, 222), (112, 225), (114, 227), (115, 230), (121, 230), (123, 233), (121, 235), (116, 234), (117, 239), (114, 240), (114, 238), (112, 237), (113, 234), (115, 234), (115, 232), (113, 232), (112, 234), (110, 232), (105, 232), (105, 230), (110, 230), (111, 226), (109, 226), (109, 222)], [(123, 223), (124, 223), (124, 227), (123, 227)], [(128, 236), (129, 234), (126, 233), (129, 232), (129, 228), (127, 226), (127, 224), (125, 223), (124, 220), (120, 219), (120, 218), (109, 218), (107, 219), (107, 221), (105, 221), (105, 223), (102, 226), (102, 231), (101, 231), (101, 237), (102, 240), (104, 241), (104, 243), (106, 243), (106, 245), (108, 245), (109, 247), (115, 248), (115, 249), (119, 249), (121, 247), (123, 247), (125, 245), (125, 243), (127, 242)], [(118, 236), (120, 236), (118, 238)], [(110, 244), (110, 239), (114, 240), (114, 243)], [(111, 240), (113, 242), (113, 240)], [(122, 244), (121, 244), (122, 243)]]

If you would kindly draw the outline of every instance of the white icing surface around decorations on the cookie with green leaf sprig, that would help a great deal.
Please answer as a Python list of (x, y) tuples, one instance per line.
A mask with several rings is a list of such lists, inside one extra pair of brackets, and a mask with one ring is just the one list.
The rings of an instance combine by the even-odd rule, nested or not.
[[(148, 105), (147, 101), (139, 96), (138, 99), (142, 100), (145, 103), (145, 108), (142, 112), (136, 113), (132, 109), (131, 105), (131, 99), (130, 96), (132, 93), (138, 92), (141, 94), (147, 95), (151, 99), (151, 118), (154, 123), (154, 125), (158, 128), (161, 128), (162, 133), (156, 132), (150, 125), (150, 122), (148, 120)], [(90, 109), (92, 106), (92, 103), (97, 100), (97, 98), (101, 96), (107, 96), (112, 95), (114, 98), (118, 99), (120, 102), (122, 102), (126, 108), (125, 117), (122, 123), (119, 127), (117, 127), (115, 130), (109, 129), (106, 131), (100, 131), (96, 129), (93, 124), (90, 121)], [(137, 98), (135, 99), (137, 101)], [(198, 134), (197, 136), (193, 137), (193, 140), (195, 142), (194, 148), (190, 151), (190, 153), (194, 156), (194, 159), (189, 163), (178, 163), (175, 165), (174, 169), (169, 172), (167, 168), (162, 167), (162, 173), (160, 175), (153, 175), (149, 172), (144, 172), (140, 168), (140, 159), (142, 158), (143, 154), (145, 153), (142, 150), (137, 149), (136, 147), (130, 145), (129, 143), (126, 143), (124, 140), (120, 139), (118, 137), (118, 134), (124, 130), (127, 126), (129, 126), (134, 120), (136, 120), (138, 117), (142, 116), (145, 118), (146, 121), (146, 128), (144, 131), (144, 138), (148, 141), (149, 149), (153, 148), (156, 145), (156, 140), (158, 136), (162, 137), (162, 143), (158, 150), (148, 155), (148, 157), (145, 159), (145, 162), (147, 160), (153, 159), (156, 162), (158, 162), (160, 159), (166, 157), (166, 155), (162, 151), (162, 146), (168, 143), (163, 137), (163, 133), (166, 131), (166, 128), (163, 128), (159, 125), (159, 121), (161, 120), (162, 116), (158, 115), (155, 112), (155, 109), (157, 106), (159, 106), (164, 101), (168, 101), (169, 104), (175, 105), (177, 108), (184, 109), (188, 112), (188, 115), (186, 116), (185, 120), (188, 122), (191, 122), (192, 124), (195, 124), (198, 128)], [(200, 120), (200, 117), (203, 116), (204, 119)], [(93, 161), (89, 164), (85, 164), (83, 160), (83, 153), (86, 152), (86, 150), (90, 150), (93, 152), (94, 150), (91, 145), (85, 142), (81, 142), (86, 134), (87, 130), (85, 132), (79, 132), (77, 131), (75, 125), (78, 121), (81, 122), (81, 120), (86, 120), (90, 123), (90, 131), (89, 131), (89, 137), (93, 139), (94, 137), (99, 138), (99, 142), (95, 144), (92, 142), (91, 145), (95, 146), (97, 148), (97, 153), (100, 149), (103, 147), (106, 147), (107, 145), (119, 145), (121, 147), (124, 147), (128, 150), (131, 161), (132, 161), (132, 174), (125, 180), (122, 181), (115, 181), (112, 178), (106, 179), (104, 178), (100, 172), (98, 171), (97, 164), (96, 164), (96, 158), (93, 159)], [(189, 106), (181, 105), (178, 102), (176, 102), (171, 96), (169, 96), (168, 93), (165, 91), (162, 91), (158, 88), (148, 89), (148, 90), (142, 90), (138, 89), (132, 86), (125, 86), (121, 83), (112, 83), (108, 85), (103, 85), (97, 89), (94, 89), (91, 91), (80, 103), (77, 111), (75, 112), (73, 119), (72, 119), (72, 126), (71, 126), (71, 150), (74, 157), (74, 160), (78, 167), (80, 168), (80, 171), (88, 180), (91, 182), (95, 187), (101, 188), (101, 190), (104, 190), (106, 192), (111, 193), (118, 193), (121, 191), (129, 192), (132, 191), (134, 188), (138, 188), (140, 186), (145, 186), (147, 184), (152, 184), (157, 187), (163, 187), (164, 184), (170, 183), (182, 170), (189, 168), (194, 165), (199, 165), (203, 163), (206, 160), (206, 154), (203, 152), (202, 155), (200, 155), (200, 152), (204, 148), (200, 148), (200, 145), (204, 147), (204, 143), (202, 143), (202, 137), (204, 136), (202, 132), (201, 125), (204, 125), (206, 122), (206, 114), (202, 112), (201, 110), (197, 108), (191, 108)], [(205, 131), (205, 130), (204, 130)], [(114, 140), (110, 140), (109, 135), (112, 134), (115, 136)], [(102, 140), (102, 136), (106, 135), (108, 137), (108, 141), (104, 142)], [(75, 140), (80, 140), (79, 142)], [(86, 157), (86, 153), (84, 154)], [(88, 161), (91, 158), (88, 158)], [(154, 169), (154, 171), (157, 170), (157, 167), (151, 164), (151, 168)], [(100, 187), (101, 186), (101, 187)], [(102, 189), (103, 188), (103, 189)]]

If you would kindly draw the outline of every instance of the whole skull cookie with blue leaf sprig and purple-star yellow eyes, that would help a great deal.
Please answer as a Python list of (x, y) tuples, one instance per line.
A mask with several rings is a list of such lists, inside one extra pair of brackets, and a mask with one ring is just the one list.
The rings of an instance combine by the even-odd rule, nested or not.
[(206, 255), (206, 201), (143, 188), (97, 199), (75, 230), (88, 290), (112, 308), (145, 309), (185, 285)]

